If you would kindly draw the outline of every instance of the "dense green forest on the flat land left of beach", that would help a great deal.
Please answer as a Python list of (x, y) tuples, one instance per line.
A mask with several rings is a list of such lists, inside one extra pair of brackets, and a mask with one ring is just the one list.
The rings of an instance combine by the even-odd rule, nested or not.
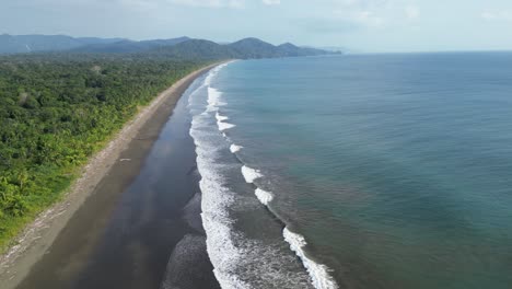
[(61, 196), (139, 107), (208, 62), (140, 55), (0, 57), (0, 247)]

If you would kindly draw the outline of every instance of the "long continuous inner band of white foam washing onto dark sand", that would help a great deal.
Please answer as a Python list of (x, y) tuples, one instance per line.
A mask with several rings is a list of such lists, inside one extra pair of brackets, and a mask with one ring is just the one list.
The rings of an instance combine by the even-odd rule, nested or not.
[[(212, 69), (205, 83), (211, 83), (214, 74), (222, 67)], [(199, 186), (202, 193), (201, 219), (207, 233), (207, 251), (213, 265), (213, 274), (223, 289), (246, 289), (249, 286), (241, 280), (235, 270), (245, 253), (233, 243), (232, 220), (226, 211), (233, 203), (233, 193), (223, 184), (223, 176), (219, 174), (221, 164), (216, 162), (218, 146), (210, 141), (210, 114), (208, 111), (219, 105), (221, 93), (208, 88), (208, 106), (205, 113), (193, 116), (190, 136), (196, 144), (197, 167), (201, 175)], [(193, 102), (193, 99), (189, 100)], [(223, 124), (223, 123), (222, 123)]]

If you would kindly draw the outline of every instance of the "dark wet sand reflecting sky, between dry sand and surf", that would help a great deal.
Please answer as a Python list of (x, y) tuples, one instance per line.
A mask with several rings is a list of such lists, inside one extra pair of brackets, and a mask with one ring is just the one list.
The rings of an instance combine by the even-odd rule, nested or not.
[(183, 94), (144, 124), (18, 288), (219, 287), (206, 254)]

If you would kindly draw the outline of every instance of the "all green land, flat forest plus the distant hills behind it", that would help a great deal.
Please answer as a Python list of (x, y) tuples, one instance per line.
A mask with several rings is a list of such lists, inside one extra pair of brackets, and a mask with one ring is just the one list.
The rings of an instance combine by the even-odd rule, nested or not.
[(176, 80), (220, 59), (327, 54), (256, 38), (220, 45), (187, 37), (1, 35), (2, 42), (12, 47), (0, 53), (20, 47), (54, 53), (0, 57), (0, 252), (59, 199), (89, 157), (140, 106)]

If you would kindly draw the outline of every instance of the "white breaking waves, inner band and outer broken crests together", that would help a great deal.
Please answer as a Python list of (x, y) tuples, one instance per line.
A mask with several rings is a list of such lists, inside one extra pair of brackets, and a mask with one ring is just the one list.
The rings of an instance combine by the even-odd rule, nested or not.
[[(237, 269), (240, 267), (246, 267), (245, 269), (252, 268), (251, 270), (255, 274), (257, 273), (261, 276), (266, 276), (264, 278), (266, 280), (265, 282), (275, 284), (275, 286), (278, 286), (276, 288), (280, 288), (279, 285), (290, 286), (292, 284), (295, 284), (295, 286), (291, 288), (299, 288), (303, 285), (301, 281), (311, 279), (311, 284), (316, 289), (337, 289), (338, 286), (328, 274), (328, 267), (317, 264), (307, 257), (304, 252), (304, 246), (306, 245), (304, 238), (291, 232), (288, 228), (284, 228), (282, 232), (284, 241), (290, 244), (290, 248), (295, 252), (296, 256), (302, 261), (307, 270), (309, 278), (305, 273), (303, 277), (298, 275), (295, 276), (296, 278), (291, 278), (293, 275), (290, 275), (288, 276), (290, 278), (288, 278), (287, 273), (283, 274), (279, 269), (277, 269), (277, 271), (268, 271), (268, 269), (254, 267), (254, 262), (248, 262), (251, 258), (265, 258), (278, 262), (272, 257), (278, 254), (277, 248), (266, 247), (260, 248), (263, 251), (258, 251), (235, 245), (234, 240), (236, 240), (237, 236), (233, 232), (233, 220), (230, 218), (228, 211), (228, 207), (234, 203), (234, 193), (224, 185), (226, 180), (219, 173), (223, 169), (222, 164), (217, 162), (217, 158), (219, 158), (219, 147), (209, 140), (210, 136), (208, 135), (216, 134), (211, 131), (210, 126), (208, 126), (208, 122), (211, 119), (210, 117), (213, 112), (216, 112), (214, 117), (218, 128), (224, 137), (224, 130), (235, 127), (235, 125), (226, 123), (226, 120), (229, 120), (228, 116), (219, 114), (219, 107), (226, 105), (226, 103), (222, 102), (222, 92), (210, 86), (214, 76), (225, 66), (226, 65), (222, 65), (212, 69), (205, 78), (202, 85), (194, 92), (196, 93), (200, 89), (206, 89), (208, 99), (206, 108), (202, 106), (200, 112), (193, 114), (190, 127), (190, 136), (196, 144), (197, 166), (201, 175), (201, 181), (199, 183), (202, 193), (201, 219), (207, 233), (207, 252), (213, 265), (216, 278), (223, 289), (252, 288), (252, 285), (242, 280), (237, 275)], [(191, 103), (189, 103), (189, 107), (191, 107)], [(190, 108), (190, 112), (193, 111), (194, 109)], [(232, 143), (230, 146), (230, 151), (235, 153), (242, 148), (241, 146)], [(241, 173), (245, 182), (249, 184), (254, 184), (256, 180), (264, 177), (259, 170), (252, 169), (245, 164), (242, 166)], [(275, 197), (272, 193), (259, 187), (256, 187), (254, 194), (265, 206), (269, 206)], [(253, 248), (255, 246), (259, 245), (254, 244)], [(279, 268), (277, 264), (275, 265), (276, 268)]]

